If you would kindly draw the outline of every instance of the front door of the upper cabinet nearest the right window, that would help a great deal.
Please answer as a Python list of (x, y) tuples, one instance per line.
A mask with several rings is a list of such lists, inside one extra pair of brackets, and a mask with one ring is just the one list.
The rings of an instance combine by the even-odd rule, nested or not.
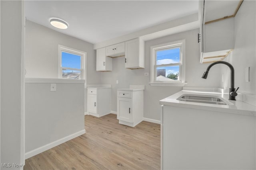
[(125, 68), (136, 68), (139, 66), (139, 39), (125, 42)]

